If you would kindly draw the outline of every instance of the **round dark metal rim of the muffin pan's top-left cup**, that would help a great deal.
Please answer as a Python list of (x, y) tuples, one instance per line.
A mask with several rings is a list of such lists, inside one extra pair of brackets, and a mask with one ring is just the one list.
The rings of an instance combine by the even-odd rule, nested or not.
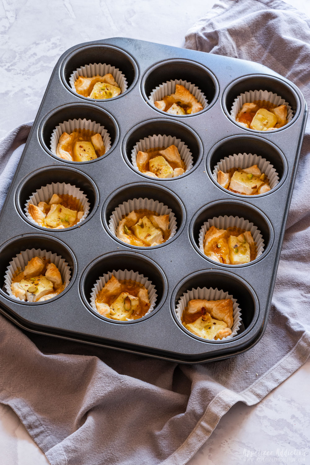
[[(93, 47), (102, 47), (102, 48), (108, 48), (110, 50), (118, 50), (119, 52), (123, 53), (125, 55), (125, 57), (129, 61), (131, 61), (132, 65), (133, 65), (133, 68), (134, 68), (135, 77), (134, 77), (134, 80), (132, 81), (132, 84), (127, 87), (127, 89), (125, 90), (124, 93), (120, 93), (119, 95), (117, 95), (116, 97), (112, 97), (111, 99), (91, 99), (90, 97), (85, 97), (84, 95), (80, 95), (79, 93), (74, 92), (73, 89), (69, 86), (69, 84), (66, 81), (66, 77), (65, 77), (66, 65), (67, 65), (68, 61), (71, 58), (73, 58), (74, 55), (81, 52), (83, 49), (87, 50), (87, 49), (93, 48)], [(85, 63), (84, 65), (80, 65), (80, 66), (85, 66), (85, 65), (89, 65), (89, 64), (92, 64), (92, 63)], [(111, 63), (109, 63), (109, 64), (111, 64)], [(114, 66), (114, 65), (112, 65), (112, 66)], [(122, 73), (124, 73), (123, 70), (121, 70), (121, 71), (122, 71)], [(125, 75), (125, 78), (126, 78), (126, 75)], [(90, 103), (95, 103), (95, 102), (103, 103), (106, 100), (108, 100), (108, 101), (117, 100), (120, 97), (122, 97), (123, 95), (126, 95), (127, 93), (129, 93), (131, 91), (131, 89), (137, 84), (137, 82), (139, 80), (139, 67), (138, 67), (138, 65), (136, 63), (136, 60), (128, 52), (121, 49), (120, 47), (116, 47), (116, 46), (112, 46), (112, 45), (104, 45), (104, 44), (102, 44), (102, 45), (97, 44), (97, 45), (81, 46), (78, 49), (76, 49), (75, 51), (71, 52), (70, 54), (67, 54), (66, 57), (64, 57), (64, 59), (62, 60), (61, 65), (59, 66), (59, 79), (60, 79), (61, 84), (65, 87), (65, 89), (67, 91), (73, 93), (73, 95), (75, 97), (78, 97), (78, 98), (83, 99), (86, 102), (88, 101)]]

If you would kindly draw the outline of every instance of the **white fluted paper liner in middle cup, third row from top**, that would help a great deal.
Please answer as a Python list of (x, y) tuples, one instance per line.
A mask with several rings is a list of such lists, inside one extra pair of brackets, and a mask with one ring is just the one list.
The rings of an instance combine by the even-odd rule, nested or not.
[[(153, 199), (133, 199), (128, 200), (127, 202), (123, 202), (115, 210), (112, 212), (109, 221), (109, 229), (111, 233), (116, 236), (117, 228), (119, 226), (119, 222), (122, 219), (122, 216), (127, 216), (132, 210), (150, 210), (151, 212), (156, 212), (158, 215), (169, 215), (169, 229), (170, 229), (170, 236), (167, 240), (171, 239), (174, 234), (177, 232), (177, 219), (174, 213), (171, 211), (171, 208), (168, 208), (162, 202), (158, 202), (158, 200)], [(152, 246), (150, 246), (152, 247)]]

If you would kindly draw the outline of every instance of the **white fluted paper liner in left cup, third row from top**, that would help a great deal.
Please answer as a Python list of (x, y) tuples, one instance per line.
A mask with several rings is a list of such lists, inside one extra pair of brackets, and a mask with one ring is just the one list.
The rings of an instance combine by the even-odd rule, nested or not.
[[(77, 222), (77, 225), (81, 221), (83, 221), (88, 215), (90, 204), (88, 203), (88, 199), (83, 191), (81, 191), (78, 187), (71, 186), (71, 184), (66, 184), (64, 182), (63, 183), (53, 182), (52, 184), (47, 184), (46, 186), (43, 186), (40, 189), (37, 189), (35, 192), (31, 194), (30, 198), (26, 201), (24, 212), (26, 214), (26, 217), (29, 219), (29, 221), (31, 221), (35, 225), (38, 224), (36, 221), (34, 221), (33, 217), (28, 212), (29, 204), (38, 206), (39, 202), (48, 203), (49, 200), (52, 198), (53, 194), (58, 194), (58, 195), (68, 194), (68, 195), (72, 195), (72, 197), (75, 197), (76, 199), (79, 200), (81, 206), (83, 207), (84, 215)], [(50, 228), (46, 228), (46, 229), (50, 229)]]

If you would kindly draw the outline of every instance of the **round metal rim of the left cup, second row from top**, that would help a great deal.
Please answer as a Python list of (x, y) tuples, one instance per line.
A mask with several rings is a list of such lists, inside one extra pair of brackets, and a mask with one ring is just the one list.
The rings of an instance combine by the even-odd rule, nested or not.
[[(85, 108), (93, 107), (93, 109), (95, 109), (96, 111), (98, 111), (98, 110), (101, 111), (102, 113), (104, 113), (111, 120), (111, 122), (112, 122), (112, 124), (113, 124), (113, 126), (115, 128), (115, 139), (111, 144), (111, 148), (106, 153), (104, 153), (103, 155), (101, 155), (100, 157), (98, 157), (96, 159), (88, 160), (88, 161), (64, 160), (64, 159), (58, 157), (57, 155), (55, 155), (45, 143), (45, 140), (44, 140), (44, 137), (43, 137), (43, 130), (44, 130), (44, 127), (46, 126), (46, 123), (48, 122), (48, 120), (51, 117), (53, 117), (56, 113), (58, 113), (59, 111), (61, 111), (63, 109), (65, 110), (67, 108), (73, 108), (75, 106), (82, 106), (82, 107), (85, 107)], [(62, 122), (63, 121), (60, 121), (58, 124), (60, 124)], [(98, 122), (98, 121), (95, 121), (95, 122)], [(105, 159), (108, 155), (110, 155), (110, 153), (112, 153), (112, 150), (114, 150), (115, 147), (118, 145), (118, 143), (119, 143), (119, 133), (120, 133), (119, 125), (118, 125), (117, 121), (115, 120), (115, 118), (112, 116), (111, 113), (107, 112), (104, 108), (101, 108), (100, 106), (94, 106), (92, 104), (81, 103), (81, 102), (72, 102), (72, 103), (69, 103), (69, 104), (57, 106), (51, 112), (46, 113), (45, 117), (40, 120), (40, 124), (39, 124), (38, 129), (37, 129), (37, 137), (39, 139), (40, 145), (43, 148), (43, 150), (47, 153), (47, 155), (49, 155), (50, 157), (53, 157), (53, 159), (56, 159), (56, 160), (58, 160), (58, 161), (60, 161), (62, 163), (65, 163), (65, 164), (68, 163), (68, 166), (70, 166), (70, 165), (72, 165), (72, 166), (88, 165), (90, 163), (98, 162), (101, 159)], [(52, 133), (51, 133), (51, 136), (52, 136)]]

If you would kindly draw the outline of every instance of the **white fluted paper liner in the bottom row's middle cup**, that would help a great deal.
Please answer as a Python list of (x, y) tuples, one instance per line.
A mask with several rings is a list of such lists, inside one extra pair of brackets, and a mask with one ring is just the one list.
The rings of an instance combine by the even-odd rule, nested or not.
[(102, 289), (106, 285), (107, 281), (112, 278), (112, 274), (115, 276), (116, 279), (132, 279), (132, 281), (136, 281), (138, 283), (141, 283), (145, 287), (145, 289), (147, 289), (147, 291), (148, 291), (149, 300), (150, 300), (150, 304), (151, 304), (150, 308), (145, 313), (145, 315), (148, 315), (149, 313), (152, 312), (152, 310), (154, 310), (155, 304), (156, 304), (156, 299), (157, 299), (157, 293), (156, 293), (155, 286), (152, 284), (152, 281), (149, 281), (148, 278), (145, 278), (145, 276), (143, 276), (143, 274), (139, 274), (137, 271), (134, 272), (132, 270), (130, 270), (130, 271), (128, 271), (128, 270), (125, 270), (125, 271), (123, 271), (123, 270), (118, 270), (118, 271), (113, 270), (112, 272), (109, 271), (108, 273), (104, 274), (103, 276), (100, 276), (100, 278), (97, 279), (94, 287), (92, 288), (90, 301), (91, 301), (92, 308), (96, 312), (97, 312), (96, 303), (95, 303), (96, 297), (97, 297), (98, 293), (100, 291), (102, 291)]

